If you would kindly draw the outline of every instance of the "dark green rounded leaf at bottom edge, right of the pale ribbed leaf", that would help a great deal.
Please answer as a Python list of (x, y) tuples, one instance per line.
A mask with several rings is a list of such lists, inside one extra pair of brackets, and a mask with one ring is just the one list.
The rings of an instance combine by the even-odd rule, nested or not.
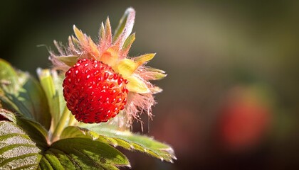
[(68, 138), (54, 142), (41, 159), (41, 169), (117, 169), (130, 166), (117, 149), (87, 138)]

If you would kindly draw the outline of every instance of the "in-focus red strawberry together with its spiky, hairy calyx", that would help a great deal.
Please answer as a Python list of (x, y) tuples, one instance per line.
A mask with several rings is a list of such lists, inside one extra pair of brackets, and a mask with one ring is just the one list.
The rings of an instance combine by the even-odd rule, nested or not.
[[(110, 21), (107, 18), (105, 24), (102, 23), (100, 26), (98, 42), (92, 40), (75, 26), (73, 27), (75, 36), (68, 38), (67, 47), (54, 41), (59, 54), (50, 52), (50, 60), (55, 69), (66, 72), (63, 83), (65, 100), (68, 108), (78, 120), (89, 123), (104, 122), (115, 116), (123, 106), (125, 108), (123, 108), (122, 114), (110, 122), (117, 124), (120, 128), (128, 128), (134, 120), (140, 120), (141, 113), (152, 116), (152, 106), (156, 103), (153, 95), (162, 89), (154, 86), (150, 81), (162, 79), (166, 74), (160, 69), (146, 66), (147, 62), (154, 57), (154, 53), (138, 57), (128, 56), (130, 47), (135, 40), (135, 33), (131, 34), (134, 21), (135, 10), (127, 8), (114, 35), (112, 35)], [(88, 65), (84, 67), (85, 64), (80, 63), (80, 60), (78, 62), (78, 59)], [(105, 66), (105, 69), (93, 68), (95, 61), (98, 66)], [(76, 66), (76, 64), (80, 64), (80, 66)], [(78, 75), (75, 75), (77, 70)], [(97, 70), (98, 73), (95, 73)], [(87, 71), (90, 74), (82, 71)], [(107, 79), (104, 79), (105, 75), (108, 75)], [(117, 81), (113, 79), (114, 76), (117, 77)], [(100, 80), (98, 80), (99, 78)], [(80, 79), (79, 82), (78, 79)], [(128, 83), (118, 84), (118, 81), (123, 79), (126, 79), (125, 82)], [(112, 84), (115, 84), (114, 87), (110, 87), (113, 86)], [(88, 85), (91, 86), (90, 89)], [(105, 93), (100, 92), (104, 89)], [(109, 98), (109, 104), (105, 98)], [(122, 101), (117, 103), (119, 98), (122, 98)], [(114, 99), (116, 101), (113, 101)], [(106, 115), (107, 117), (105, 117)]]

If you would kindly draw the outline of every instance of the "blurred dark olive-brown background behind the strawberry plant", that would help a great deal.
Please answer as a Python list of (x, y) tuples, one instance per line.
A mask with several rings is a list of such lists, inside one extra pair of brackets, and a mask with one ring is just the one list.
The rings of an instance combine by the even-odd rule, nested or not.
[[(129, 6), (137, 11), (130, 56), (157, 52), (153, 121), (144, 134), (177, 161), (125, 152), (132, 169), (299, 168), (299, 1), (1, 1), (1, 58), (36, 75), (53, 40), (73, 24), (98, 39)], [(46, 46), (45, 46), (46, 45)], [(42, 47), (39, 47), (42, 46)], [(135, 132), (141, 132), (135, 124)]]

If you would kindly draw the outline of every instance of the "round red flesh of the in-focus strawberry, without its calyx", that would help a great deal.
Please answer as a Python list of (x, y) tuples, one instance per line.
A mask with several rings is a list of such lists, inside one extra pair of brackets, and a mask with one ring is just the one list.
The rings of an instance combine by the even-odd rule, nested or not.
[(97, 60), (78, 60), (63, 81), (66, 106), (83, 123), (107, 122), (127, 103), (127, 80)]

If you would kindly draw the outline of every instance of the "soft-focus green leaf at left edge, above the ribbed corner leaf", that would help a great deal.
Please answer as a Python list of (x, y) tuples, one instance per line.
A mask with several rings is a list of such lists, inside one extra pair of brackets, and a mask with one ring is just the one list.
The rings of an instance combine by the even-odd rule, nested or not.
[(0, 101), (4, 108), (14, 110), (26, 118), (36, 119), (50, 128), (51, 115), (46, 94), (41, 85), (28, 73), (16, 71), (0, 59)]

